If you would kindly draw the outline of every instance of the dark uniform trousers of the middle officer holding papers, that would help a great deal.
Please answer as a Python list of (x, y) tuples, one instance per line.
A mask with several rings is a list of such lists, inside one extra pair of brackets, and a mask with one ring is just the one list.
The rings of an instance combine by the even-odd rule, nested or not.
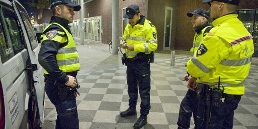
[(146, 59), (130, 61), (127, 59), (127, 85), (129, 95), (129, 107), (136, 107), (138, 99), (138, 85), (141, 97), (141, 115), (147, 116), (151, 109), (150, 90), (151, 90), (151, 70), (150, 64)]

